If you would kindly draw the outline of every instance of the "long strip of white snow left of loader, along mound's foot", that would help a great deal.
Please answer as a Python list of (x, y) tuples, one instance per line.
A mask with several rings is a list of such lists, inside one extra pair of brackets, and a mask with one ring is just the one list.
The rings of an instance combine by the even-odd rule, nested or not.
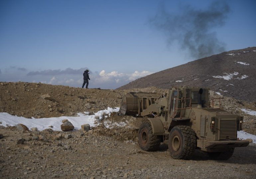
[[(0, 113), (0, 121), (3, 126), (15, 126), (17, 124), (24, 124), (29, 129), (32, 127), (37, 127), (39, 131), (44, 129), (48, 129), (49, 126), (53, 126), (54, 131), (61, 131), (61, 125), (63, 119), (68, 119), (74, 126), (74, 129), (81, 129), (81, 125), (89, 124), (91, 127), (97, 126), (98, 122), (95, 119), (95, 116), (99, 116), (99, 120), (102, 119), (103, 114), (105, 113), (105, 118), (110, 115), (111, 112), (118, 112), (119, 107), (110, 108), (108, 107), (105, 110), (98, 111), (94, 113), (94, 115), (87, 115), (88, 112), (77, 113), (78, 116), (70, 117), (70, 116), (62, 116), (62, 117), (50, 117), (50, 118), (39, 118), (39, 119), (28, 119), (25, 117), (12, 116), (8, 113), (1, 112)], [(119, 124), (117, 124), (119, 125)]]

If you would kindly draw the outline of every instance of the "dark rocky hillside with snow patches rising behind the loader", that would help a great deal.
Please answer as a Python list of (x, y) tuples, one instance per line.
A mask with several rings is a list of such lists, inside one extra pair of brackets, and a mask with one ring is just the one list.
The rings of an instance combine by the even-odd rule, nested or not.
[(207, 87), (221, 95), (256, 101), (256, 47), (223, 52), (139, 78), (119, 90), (156, 86)]

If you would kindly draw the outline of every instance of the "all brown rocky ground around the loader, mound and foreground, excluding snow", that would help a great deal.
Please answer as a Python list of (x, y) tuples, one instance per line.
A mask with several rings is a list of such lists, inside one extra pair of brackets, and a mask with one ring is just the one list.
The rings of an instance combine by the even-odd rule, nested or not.
[[(77, 112), (119, 107), (122, 95), (130, 91), (166, 92), (155, 87), (100, 90), (2, 82), (0, 112), (35, 118), (74, 116)], [(255, 117), (240, 110), (256, 110), (254, 103), (224, 97), (221, 104), (229, 112), (244, 115), (244, 130), (256, 134)], [(139, 148), (137, 132), (144, 120), (111, 116), (85, 133), (19, 131), (16, 127), (1, 126), (0, 178), (255, 178), (255, 144), (236, 148), (227, 161), (211, 160), (199, 150), (189, 160), (175, 160), (165, 144), (156, 152)], [(127, 125), (103, 125), (114, 122)]]

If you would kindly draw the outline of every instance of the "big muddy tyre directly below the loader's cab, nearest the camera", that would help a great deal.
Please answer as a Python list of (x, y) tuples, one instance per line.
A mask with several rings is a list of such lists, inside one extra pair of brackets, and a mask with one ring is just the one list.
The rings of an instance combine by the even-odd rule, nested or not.
[(168, 139), (169, 153), (174, 159), (188, 159), (196, 148), (195, 133), (189, 126), (175, 126)]

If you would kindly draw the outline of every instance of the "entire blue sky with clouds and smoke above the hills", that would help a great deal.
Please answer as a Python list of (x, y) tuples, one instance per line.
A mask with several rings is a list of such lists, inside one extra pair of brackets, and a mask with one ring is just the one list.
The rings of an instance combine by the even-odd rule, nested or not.
[[(254, 0), (1, 0), (0, 81), (80, 87), (88, 68), (89, 87), (117, 88), (200, 57), (256, 46), (255, 7)], [(209, 41), (217, 46), (207, 51)]]

